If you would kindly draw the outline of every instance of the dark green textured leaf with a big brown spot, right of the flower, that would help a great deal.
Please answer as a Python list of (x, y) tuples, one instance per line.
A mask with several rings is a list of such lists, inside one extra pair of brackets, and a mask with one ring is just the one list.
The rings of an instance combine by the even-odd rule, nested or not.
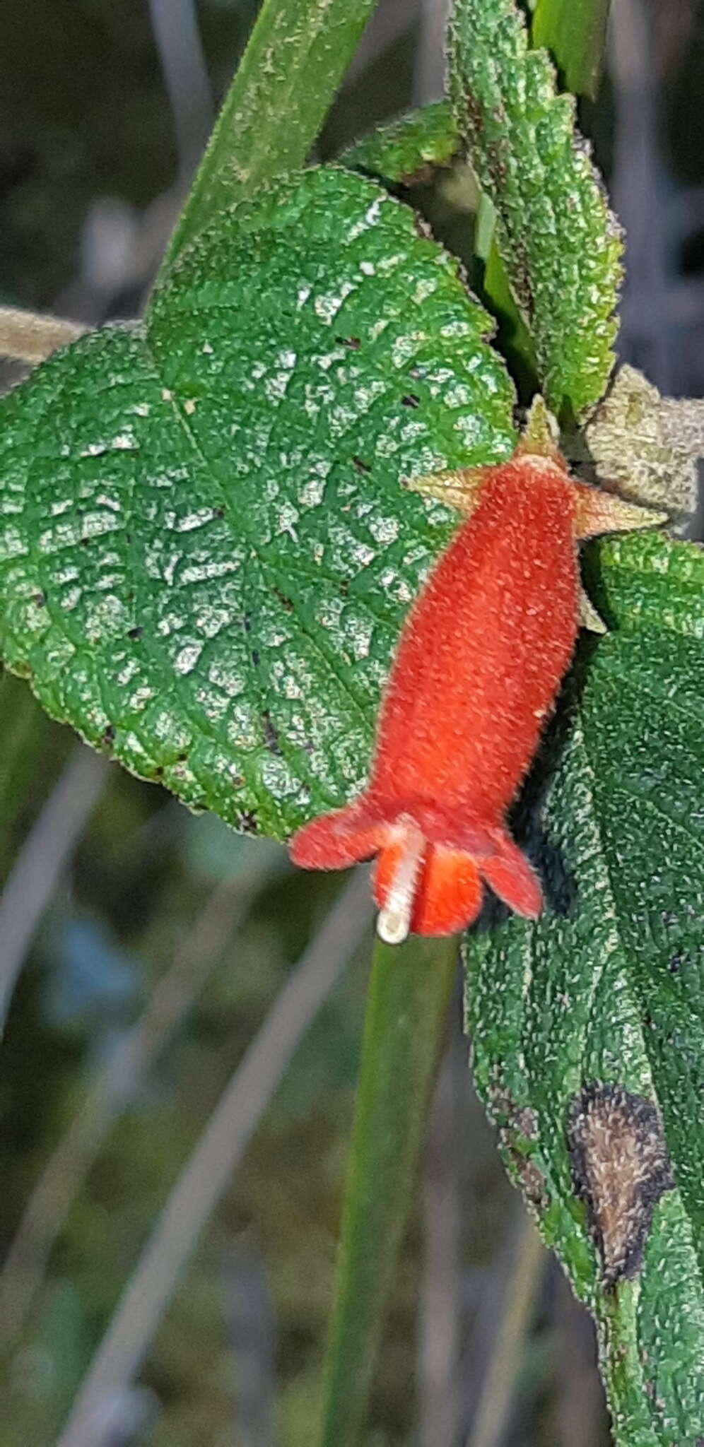
[(694, 1447), (704, 554), (637, 535), (594, 546), (587, 570), (613, 631), (582, 645), (535, 780), (546, 910), (469, 939), (474, 1068), (510, 1171), (597, 1317), (617, 1441)]

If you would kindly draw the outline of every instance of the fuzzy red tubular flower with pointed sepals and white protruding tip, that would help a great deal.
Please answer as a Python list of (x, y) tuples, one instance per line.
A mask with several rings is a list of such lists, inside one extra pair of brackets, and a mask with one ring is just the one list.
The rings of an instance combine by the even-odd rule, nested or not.
[(453, 501), (465, 488), (474, 511), (406, 619), (368, 787), (290, 844), (303, 868), (378, 857), (374, 896), (388, 943), (408, 930), (464, 929), (479, 913), (482, 881), (519, 915), (539, 915), (540, 884), (506, 812), (572, 655), (577, 538), (633, 527), (637, 511), (572, 482), (556, 454), (519, 450), (439, 482), (455, 482)]

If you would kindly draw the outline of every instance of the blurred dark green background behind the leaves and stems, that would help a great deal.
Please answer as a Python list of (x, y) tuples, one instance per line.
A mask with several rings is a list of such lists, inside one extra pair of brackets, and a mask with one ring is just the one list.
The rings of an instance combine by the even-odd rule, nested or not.
[[(3, 0), (0, 300), (91, 324), (139, 310), (255, 10)], [(323, 158), (439, 96), (443, 14), (442, 0), (382, 0)], [(691, 395), (704, 392), (703, 82), (704, 3), (614, 0), (608, 75), (582, 124), (629, 232), (620, 350)], [(462, 237), (462, 188), (440, 178), (427, 201)], [(17, 376), (6, 366), (6, 385)], [(339, 903), (348, 881), (294, 875), (282, 849), (97, 761), (10, 677), (0, 819), (0, 959), (19, 972), (0, 1052), (0, 1447), (43, 1447), (220, 1092), (330, 909), (355, 904)], [(262, 1100), (206, 1233), (185, 1243), (190, 1265), (106, 1443), (313, 1440), (371, 941), (356, 915), (338, 983)], [(145, 1030), (146, 1066), (110, 1074)], [(524, 1346), (498, 1372), (503, 1418), (481, 1435), (527, 1249), (458, 1000), (372, 1447), (604, 1447), (591, 1325), (548, 1259), (529, 1272)]]

